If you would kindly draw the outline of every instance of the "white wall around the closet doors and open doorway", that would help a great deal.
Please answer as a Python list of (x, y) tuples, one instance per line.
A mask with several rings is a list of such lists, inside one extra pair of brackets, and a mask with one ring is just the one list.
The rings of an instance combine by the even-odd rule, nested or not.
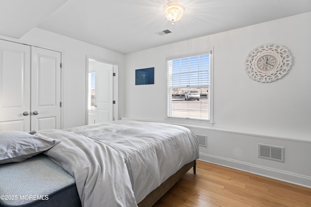
[[(34, 28), (20, 39), (6, 36), (0, 38), (62, 52), (62, 127), (65, 128), (86, 124), (86, 56), (118, 64), (119, 81), (124, 79), (124, 55), (118, 52), (38, 28)], [(124, 102), (123, 90), (120, 90), (119, 95), (119, 101)], [(119, 111), (124, 111), (120, 104)]]

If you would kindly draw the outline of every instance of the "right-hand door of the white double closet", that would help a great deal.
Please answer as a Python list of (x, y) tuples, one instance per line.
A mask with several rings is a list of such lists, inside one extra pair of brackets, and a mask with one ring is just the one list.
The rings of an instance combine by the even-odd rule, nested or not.
[(61, 53), (32, 47), (31, 129), (61, 127)]

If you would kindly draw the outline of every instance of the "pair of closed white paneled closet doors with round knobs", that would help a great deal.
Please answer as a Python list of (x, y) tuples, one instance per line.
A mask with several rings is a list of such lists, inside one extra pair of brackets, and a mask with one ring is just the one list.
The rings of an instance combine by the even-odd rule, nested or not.
[(60, 128), (61, 53), (0, 40), (0, 131)]

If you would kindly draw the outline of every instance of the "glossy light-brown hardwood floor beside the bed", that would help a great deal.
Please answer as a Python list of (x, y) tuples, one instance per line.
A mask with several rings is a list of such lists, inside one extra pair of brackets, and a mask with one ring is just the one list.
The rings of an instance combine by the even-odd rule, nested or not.
[(311, 207), (311, 189), (197, 160), (154, 207)]

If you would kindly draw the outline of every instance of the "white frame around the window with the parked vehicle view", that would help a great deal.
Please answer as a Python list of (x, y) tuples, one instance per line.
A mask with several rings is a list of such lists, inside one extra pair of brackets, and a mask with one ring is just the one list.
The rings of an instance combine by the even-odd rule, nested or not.
[[(196, 119), (196, 118), (186, 118), (186, 117), (175, 117), (175, 116), (169, 116), (168, 115), (168, 104), (169, 104), (169, 61), (175, 60), (175, 59), (182, 59), (182, 58), (189, 58), (189, 57), (193, 57), (193, 56), (200, 56), (200, 55), (206, 55), (209, 54), (209, 64), (210, 64), (210, 68), (209, 68), (209, 120), (208, 119)], [(213, 49), (207, 49), (201, 52), (197, 52), (197, 53), (188, 53), (188, 54), (182, 54), (182, 55), (177, 55), (177, 56), (170, 56), (166, 58), (166, 119), (169, 122), (173, 122), (175, 124), (193, 124), (195, 126), (206, 126), (206, 125), (210, 125), (212, 126), (214, 124), (214, 114), (213, 114), (213, 108), (214, 108), (214, 87), (213, 87), (213, 75), (214, 75), (214, 71), (213, 71)], [(172, 97), (171, 97), (172, 99)]]

